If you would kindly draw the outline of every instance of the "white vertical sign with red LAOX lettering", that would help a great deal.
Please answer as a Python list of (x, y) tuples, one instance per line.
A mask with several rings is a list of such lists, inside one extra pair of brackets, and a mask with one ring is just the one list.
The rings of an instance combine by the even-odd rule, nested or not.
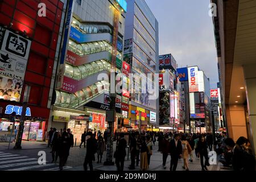
[(188, 68), (189, 92), (199, 92), (198, 67)]

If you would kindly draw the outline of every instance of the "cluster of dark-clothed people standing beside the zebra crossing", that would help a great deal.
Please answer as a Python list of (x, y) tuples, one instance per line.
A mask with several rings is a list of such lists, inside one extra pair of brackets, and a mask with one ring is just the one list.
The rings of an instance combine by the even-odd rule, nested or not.
[(57, 131), (56, 128), (52, 128), (49, 131), (48, 146), (51, 146), (52, 150), (52, 163), (57, 162), (59, 157), (59, 168), (62, 171), (63, 167), (67, 163), (69, 150), (74, 146), (73, 134), (70, 129), (63, 129)]

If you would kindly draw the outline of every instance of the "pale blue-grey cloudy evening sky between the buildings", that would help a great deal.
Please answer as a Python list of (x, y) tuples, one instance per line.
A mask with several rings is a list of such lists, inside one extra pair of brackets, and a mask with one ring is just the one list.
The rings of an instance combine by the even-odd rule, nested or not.
[(217, 55), (210, 0), (146, 0), (159, 23), (159, 54), (172, 53), (178, 67), (198, 65), (217, 88)]

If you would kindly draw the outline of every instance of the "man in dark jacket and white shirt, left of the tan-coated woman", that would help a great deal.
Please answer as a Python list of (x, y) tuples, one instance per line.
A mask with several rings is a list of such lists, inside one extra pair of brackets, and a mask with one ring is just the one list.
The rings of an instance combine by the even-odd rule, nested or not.
[(171, 154), (170, 171), (176, 171), (178, 160), (182, 155), (182, 146), (181, 146), (179, 134), (175, 134), (174, 139), (171, 140), (169, 151)]

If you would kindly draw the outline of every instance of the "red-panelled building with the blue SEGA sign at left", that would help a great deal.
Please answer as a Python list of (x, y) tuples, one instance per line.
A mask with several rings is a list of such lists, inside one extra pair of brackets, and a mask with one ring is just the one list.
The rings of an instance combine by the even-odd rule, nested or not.
[[(26, 89), (30, 92), (22, 139), (43, 140), (49, 126), (51, 81), (55, 77), (65, 5), (64, 0), (43, 2), (43, 6), (36, 0), (0, 2), (1, 136), (19, 128)], [(11, 119), (13, 112), (16, 116)]]

